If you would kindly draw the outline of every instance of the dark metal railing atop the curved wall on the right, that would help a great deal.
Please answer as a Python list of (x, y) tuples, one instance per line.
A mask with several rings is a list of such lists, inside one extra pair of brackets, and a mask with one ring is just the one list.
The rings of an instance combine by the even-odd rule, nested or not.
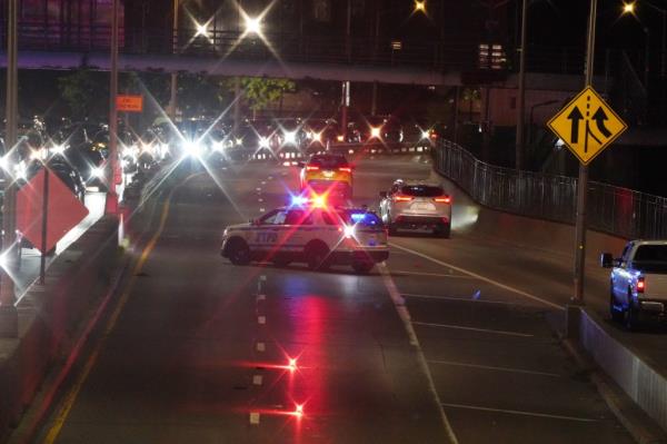
[[(498, 167), (475, 158), (460, 146), (440, 140), (436, 170), (477, 203), (500, 211), (574, 224), (577, 179)], [(667, 238), (667, 198), (590, 181), (588, 227), (625, 238)]]

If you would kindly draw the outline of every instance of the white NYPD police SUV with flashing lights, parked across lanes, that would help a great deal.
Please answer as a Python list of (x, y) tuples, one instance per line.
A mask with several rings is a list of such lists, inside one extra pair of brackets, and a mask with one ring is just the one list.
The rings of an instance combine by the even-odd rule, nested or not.
[(351, 265), (357, 273), (368, 273), (389, 257), (389, 248), (375, 213), (320, 204), (276, 208), (248, 224), (227, 227), (220, 254), (235, 265), (298, 262), (310, 269)]

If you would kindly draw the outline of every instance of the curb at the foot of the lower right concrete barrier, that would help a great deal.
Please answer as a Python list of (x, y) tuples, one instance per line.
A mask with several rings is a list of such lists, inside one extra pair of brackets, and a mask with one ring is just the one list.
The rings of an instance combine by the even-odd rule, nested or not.
[(603, 399), (639, 444), (667, 444), (667, 434), (571, 339), (561, 341), (567, 353), (589, 373)]

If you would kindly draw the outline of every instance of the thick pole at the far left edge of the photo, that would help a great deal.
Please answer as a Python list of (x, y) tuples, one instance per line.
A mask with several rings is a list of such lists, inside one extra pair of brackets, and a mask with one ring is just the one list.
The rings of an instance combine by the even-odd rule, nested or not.
[[(13, 166), (13, 148), (17, 145), (18, 128), (18, 46), (17, 46), (17, 18), (18, 0), (8, 0), (7, 14), (7, 102), (6, 116), (7, 128), (4, 138), (4, 162), (8, 170), (4, 176), (4, 201), (2, 209), (2, 228), (4, 237), (2, 239), (2, 254), (6, 263), (0, 267), (0, 337), (14, 338), (19, 335), (19, 315), (14, 306), (17, 297), (14, 285), (9, 272), (16, 269), (17, 246), (16, 243), (16, 193), (11, 175)], [(20, 248), (20, 246), (19, 246)]]

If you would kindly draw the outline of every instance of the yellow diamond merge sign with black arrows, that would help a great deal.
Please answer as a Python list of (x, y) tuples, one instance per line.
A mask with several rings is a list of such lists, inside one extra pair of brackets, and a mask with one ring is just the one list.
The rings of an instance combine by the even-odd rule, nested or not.
[(628, 128), (591, 87), (579, 92), (547, 125), (584, 165)]

